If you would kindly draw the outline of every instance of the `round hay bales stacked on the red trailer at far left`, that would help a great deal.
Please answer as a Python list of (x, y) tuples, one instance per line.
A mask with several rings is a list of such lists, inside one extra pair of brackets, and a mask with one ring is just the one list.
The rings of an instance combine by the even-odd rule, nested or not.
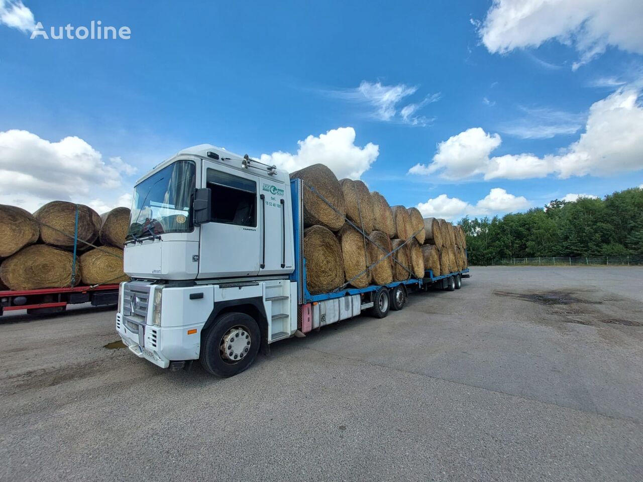
[[(77, 213), (76, 251), (84, 254), (74, 262)], [(75, 286), (127, 280), (123, 244), (128, 228), (127, 208), (100, 217), (89, 206), (66, 201), (48, 202), (33, 215), (0, 206), (1, 285), (11, 290), (70, 287), (73, 267)]]

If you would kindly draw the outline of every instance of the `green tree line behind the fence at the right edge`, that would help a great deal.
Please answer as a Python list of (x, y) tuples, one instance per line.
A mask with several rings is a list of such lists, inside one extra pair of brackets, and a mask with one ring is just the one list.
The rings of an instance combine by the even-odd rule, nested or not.
[(544, 208), (493, 218), (464, 217), (469, 263), (503, 258), (643, 254), (643, 189), (603, 199), (554, 199)]

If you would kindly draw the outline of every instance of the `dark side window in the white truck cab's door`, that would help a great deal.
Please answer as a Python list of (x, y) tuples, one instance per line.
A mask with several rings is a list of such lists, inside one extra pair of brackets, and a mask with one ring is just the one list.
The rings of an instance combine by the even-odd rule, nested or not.
[(257, 227), (257, 183), (208, 169), (207, 187), (212, 191), (212, 221)]

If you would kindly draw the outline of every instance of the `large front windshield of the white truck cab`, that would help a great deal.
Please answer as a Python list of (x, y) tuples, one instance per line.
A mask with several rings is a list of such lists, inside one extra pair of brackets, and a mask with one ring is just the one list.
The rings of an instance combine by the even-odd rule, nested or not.
[(177, 161), (134, 187), (127, 239), (192, 230), (195, 165)]

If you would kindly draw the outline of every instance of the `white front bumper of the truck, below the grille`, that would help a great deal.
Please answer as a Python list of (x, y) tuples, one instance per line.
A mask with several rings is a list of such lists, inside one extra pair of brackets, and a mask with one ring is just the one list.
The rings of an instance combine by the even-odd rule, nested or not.
[(201, 328), (203, 323), (172, 328), (143, 324), (130, 327), (121, 313), (116, 314), (116, 331), (127, 348), (161, 368), (168, 368), (170, 361), (199, 359)]

